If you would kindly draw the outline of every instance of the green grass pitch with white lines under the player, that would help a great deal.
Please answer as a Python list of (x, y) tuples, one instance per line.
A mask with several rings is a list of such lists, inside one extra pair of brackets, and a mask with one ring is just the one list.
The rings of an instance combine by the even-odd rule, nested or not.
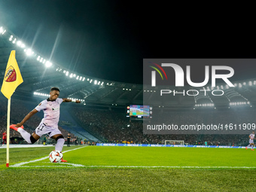
[[(0, 148), (3, 191), (256, 191), (256, 152), (235, 148)], [(67, 152), (65, 152), (67, 151)], [(44, 158), (45, 157), (45, 158)]]

